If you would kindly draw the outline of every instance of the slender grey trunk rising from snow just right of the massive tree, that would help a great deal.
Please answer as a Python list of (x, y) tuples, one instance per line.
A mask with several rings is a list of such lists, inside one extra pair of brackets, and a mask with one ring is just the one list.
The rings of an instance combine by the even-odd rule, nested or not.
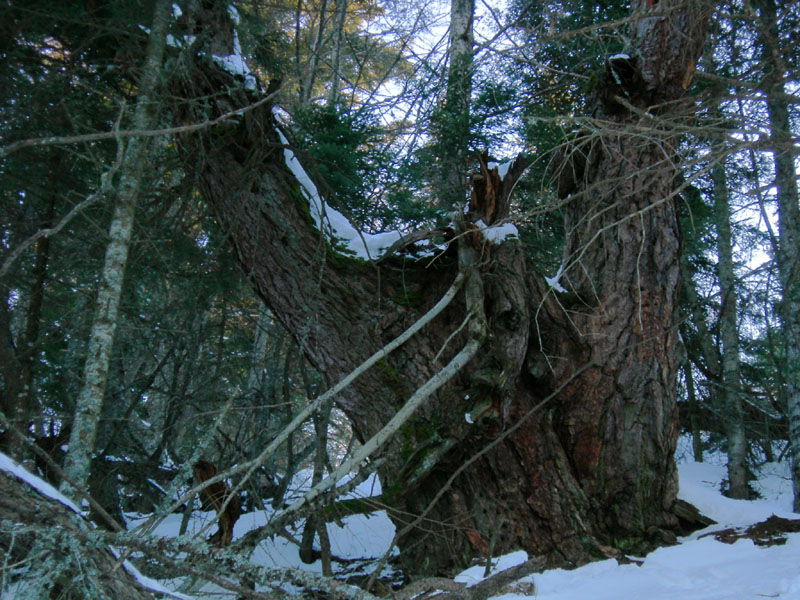
[(728, 438), (728, 493), (731, 498), (747, 499), (747, 438), (739, 379), (739, 331), (736, 311), (736, 279), (733, 272), (730, 195), (725, 165), (711, 169), (714, 182), (714, 219), (717, 228), (717, 276), (720, 286), (719, 330), (722, 340), (722, 406)]

